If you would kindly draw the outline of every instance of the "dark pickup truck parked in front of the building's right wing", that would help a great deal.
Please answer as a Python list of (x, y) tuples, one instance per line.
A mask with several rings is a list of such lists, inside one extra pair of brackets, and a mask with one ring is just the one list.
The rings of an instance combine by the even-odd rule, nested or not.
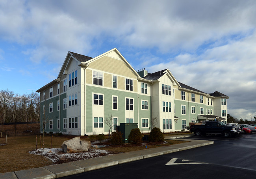
[(240, 132), (239, 127), (227, 126), (220, 121), (205, 121), (205, 124), (195, 124), (190, 126), (190, 131), (196, 136), (206, 134), (222, 134), (225, 137), (236, 135)]

